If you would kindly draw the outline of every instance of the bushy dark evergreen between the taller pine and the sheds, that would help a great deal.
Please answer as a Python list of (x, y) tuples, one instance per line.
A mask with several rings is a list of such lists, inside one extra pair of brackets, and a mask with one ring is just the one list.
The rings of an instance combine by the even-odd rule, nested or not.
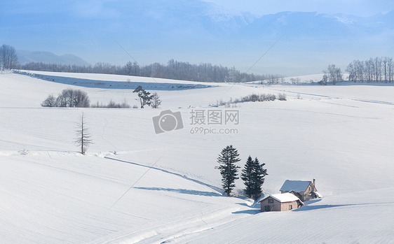
[(261, 196), (261, 186), (264, 184), (264, 176), (268, 175), (265, 164), (260, 164), (259, 159), (248, 157), (242, 170), (241, 179), (245, 184), (245, 194), (253, 199)]

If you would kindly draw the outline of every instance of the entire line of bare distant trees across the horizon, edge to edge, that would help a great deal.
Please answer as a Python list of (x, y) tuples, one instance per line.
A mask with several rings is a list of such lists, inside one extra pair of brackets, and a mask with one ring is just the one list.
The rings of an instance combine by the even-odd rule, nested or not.
[[(43, 62), (18, 63), (18, 55), (11, 45), (0, 46), (0, 68), (1, 69), (25, 69), (31, 71), (52, 71), (68, 73), (106, 73), (125, 76), (143, 76), (154, 78), (167, 78), (174, 80), (190, 80), (199, 82), (250, 82), (261, 80), (270, 85), (284, 82), (285, 76), (281, 75), (255, 75), (254, 73), (242, 73), (234, 66), (228, 68), (222, 65), (210, 63), (190, 64), (189, 62), (178, 62), (170, 59), (167, 64), (148, 64), (140, 66), (137, 62), (127, 62), (124, 66), (98, 62), (91, 65), (69, 65), (48, 64)], [(348, 80), (354, 82), (394, 82), (394, 62), (392, 57), (375, 57), (365, 61), (353, 60), (346, 67)], [(330, 64), (323, 71), (324, 76), (320, 84), (327, 85), (343, 81), (341, 69)], [(299, 81), (292, 81), (298, 84)]]

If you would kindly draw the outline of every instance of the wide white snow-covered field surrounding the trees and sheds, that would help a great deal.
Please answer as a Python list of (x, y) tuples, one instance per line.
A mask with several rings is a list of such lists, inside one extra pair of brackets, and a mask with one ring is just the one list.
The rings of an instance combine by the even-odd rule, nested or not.
[[(31, 72), (0, 73), (0, 243), (394, 243), (394, 86)], [(161, 108), (40, 106), (65, 88), (138, 105), (137, 85), (158, 92)], [(215, 107), (252, 93), (287, 101)], [(238, 123), (192, 123), (195, 110), (213, 109), (236, 111)], [(156, 134), (163, 110), (180, 112), (184, 128)], [(74, 143), (82, 112), (86, 155)], [(249, 155), (266, 163), (265, 194), (315, 178), (323, 198), (260, 213), (224, 196), (215, 166), (226, 145), (240, 166)]]

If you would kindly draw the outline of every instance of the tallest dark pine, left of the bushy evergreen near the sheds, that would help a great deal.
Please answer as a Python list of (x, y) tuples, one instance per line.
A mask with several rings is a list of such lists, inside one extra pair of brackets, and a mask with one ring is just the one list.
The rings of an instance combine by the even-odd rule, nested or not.
[(230, 196), (236, 186), (234, 182), (239, 178), (237, 173), (240, 166), (236, 165), (237, 162), (240, 162), (238, 156), (236, 148), (233, 148), (233, 145), (228, 145), (217, 157), (217, 162), (220, 165), (215, 168), (219, 168), (220, 174), (222, 174), (222, 187), (227, 196)]

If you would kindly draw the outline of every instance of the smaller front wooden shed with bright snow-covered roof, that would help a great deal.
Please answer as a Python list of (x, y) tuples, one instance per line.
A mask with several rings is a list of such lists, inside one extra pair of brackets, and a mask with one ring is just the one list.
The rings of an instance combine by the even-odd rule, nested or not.
[(261, 199), (259, 203), (261, 212), (287, 211), (304, 206), (304, 203), (292, 193), (269, 195)]

